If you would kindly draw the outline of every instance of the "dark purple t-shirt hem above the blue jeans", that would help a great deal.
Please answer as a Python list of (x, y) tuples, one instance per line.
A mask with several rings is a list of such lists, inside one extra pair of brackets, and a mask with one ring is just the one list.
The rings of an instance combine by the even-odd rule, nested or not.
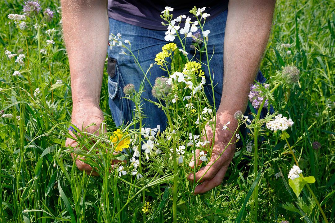
[(165, 6), (174, 8), (173, 18), (186, 15), (192, 20), (194, 15), (189, 12), (190, 9), (194, 6), (206, 7), (204, 12), (210, 14), (210, 17), (206, 18), (209, 20), (228, 8), (228, 0), (108, 0), (108, 16), (143, 28), (166, 30), (166, 27), (161, 24), (163, 19), (160, 18)]

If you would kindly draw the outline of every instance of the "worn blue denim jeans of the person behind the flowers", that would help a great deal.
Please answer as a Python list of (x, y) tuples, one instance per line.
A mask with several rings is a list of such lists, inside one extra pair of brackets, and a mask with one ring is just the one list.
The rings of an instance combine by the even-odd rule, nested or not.
[[(160, 19), (160, 18), (157, 18)], [(224, 30), (227, 20), (227, 10), (222, 12), (220, 15), (212, 20), (206, 21), (204, 29), (210, 30), (208, 36), (208, 54), (212, 55), (213, 45), (215, 51), (212, 60), (210, 61), (211, 69), (214, 71), (212, 74), (215, 105), (218, 109), (220, 105), (222, 95), (222, 84), (223, 84), (223, 42), (224, 42)], [(162, 46), (166, 42), (164, 40), (165, 31), (162, 30), (151, 30), (135, 25), (130, 25), (125, 22), (121, 22), (112, 18), (109, 18), (110, 32), (116, 35), (117, 33), (122, 34), (122, 40), (129, 40), (131, 43), (131, 49), (137, 56), (140, 65), (143, 70), (146, 71), (150, 64), (154, 63), (155, 55), (162, 50)], [(176, 38), (175, 42), (179, 48), (181, 44)], [(190, 48), (192, 38), (186, 39), (186, 51), (189, 53), (191, 59), (194, 51)], [(124, 97), (123, 88), (127, 84), (134, 84), (136, 91), (139, 90), (141, 81), (143, 80), (143, 73), (140, 68), (135, 64), (133, 57), (129, 55), (119, 54), (121, 47), (113, 46), (112, 49), (108, 49), (108, 91), (109, 91), (109, 106), (111, 108), (113, 120), (116, 126), (127, 124), (132, 120), (132, 113), (134, 110), (134, 103)], [(199, 55), (196, 55), (199, 58)], [(202, 57), (202, 62), (207, 64), (206, 58)], [(203, 68), (206, 76), (206, 85), (204, 86), (204, 92), (207, 96), (208, 101), (213, 104), (212, 87), (210, 85), (210, 78), (208, 70)], [(158, 65), (154, 65), (150, 69), (149, 80), (153, 85), (157, 77), (166, 76), (167, 73), (162, 71)], [(259, 72), (256, 80), (264, 83), (266, 79), (262, 73)], [(151, 95), (151, 87), (146, 81), (144, 85), (144, 92), (142, 93), (143, 98), (157, 101)], [(143, 112), (147, 118), (143, 120), (145, 127), (155, 128), (157, 125), (161, 126), (164, 130), (166, 126), (166, 116), (164, 112), (156, 105), (143, 100)], [(208, 107), (208, 106), (207, 106)], [(250, 113), (248, 108), (246, 114)], [(264, 116), (264, 115), (262, 115)], [(241, 129), (243, 133), (245, 130)]]

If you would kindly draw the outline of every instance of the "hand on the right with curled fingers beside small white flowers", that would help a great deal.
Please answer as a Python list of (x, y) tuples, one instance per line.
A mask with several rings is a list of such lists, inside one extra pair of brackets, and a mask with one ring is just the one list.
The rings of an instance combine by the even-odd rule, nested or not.
[[(227, 127), (232, 133), (228, 130), (228, 128), (226, 130), (222, 130), (223, 126), (228, 121), (230, 121), (230, 124), (228, 124)], [(199, 181), (199, 179), (201, 178), (202, 183), (196, 186), (194, 194), (205, 193), (222, 183), (224, 175), (226, 174), (228, 166), (234, 156), (236, 136), (233, 136), (233, 133), (235, 132), (237, 127), (238, 123), (233, 117), (233, 114), (220, 112), (219, 110), (216, 113), (216, 128), (214, 140), (212, 128), (208, 124), (205, 126), (208, 137), (207, 140), (211, 142), (210, 144), (214, 144), (208, 164), (200, 168), (200, 170), (195, 174), (195, 180)], [(233, 139), (230, 142), (232, 144), (228, 145), (228, 147), (226, 148), (226, 145), (229, 143), (232, 136)], [(196, 165), (199, 165), (202, 162), (199, 159), (199, 152), (200, 150), (197, 149)], [(192, 158), (190, 166), (191, 168), (194, 168), (194, 157)], [(188, 179), (190, 181), (193, 181), (194, 174), (190, 173), (188, 175)]]

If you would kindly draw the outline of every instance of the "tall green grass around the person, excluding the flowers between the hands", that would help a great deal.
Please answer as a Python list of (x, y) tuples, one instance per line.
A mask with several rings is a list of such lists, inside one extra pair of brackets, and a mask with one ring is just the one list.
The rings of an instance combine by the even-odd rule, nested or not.
[[(148, 222), (172, 222), (173, 165), (163, 157), (147, 163), (150, 171), (143, 183), (135, 185), (115, 172), (90, 177), (77, 170), (64, 147), (72, 101), (61, 15), (56, 12), (52, 22), (41, 29), (41, 48), (48, 54), (42, 55), (39, 64), (35, 22), (27, 19), (28, 27), (21, 33), (7, 18), (9, 13), (20, 14), (22, 3), (0, 2), (0, 109), (14, 117), (0, 117), (0, 222), (143, 222), (142, 191), (150, 202)], [(42, 5), (57, 11), (59, 3)], [(45, 31), (51, 28), (56, 32), (49, 37)], [(334, 33), (332, 1), (278, 1), (260, 66), (269, 84), (282, 66), (293, 64), (300, 70), (298, 84), (274, 92), (273, 106), (294, 121), (288, 142), (304, 175), (315, 177), (310, 187), (329, 222), (335, 221)], [(50, 38), (55, 41), (53, 46), (46, 45)], [(285, 48), (282, 43), (291, 46)], [(22, 49), (25, 65), (9, 60), (6, 49), (13, 53)], [(12, 76), (14, 70), (22, 76)], [(111, 132), (116, 127), (108, 106), (107, 77), (105, 71), (100, 107)], [(57, 80), (63, 83), (55, 84)], [(34, 97), (36, 88), (41, 90), (38, 97)], [(286, 142), (279, 132), (261, 134), (267, 140), (258, 151), (259, 222), (322, 222), (309, 191), (305, 188), (297, 199), (288, 186), (294, 160)], [(321, 143), (320, 149), (313, 149), (314, 141)], [(178, 222), (253, 222), (251, 194), (256, 183), (253, 157), (245, 147), (236, 150), (223, 184), (204, 195), (187, 193), (186, 172), (180, 171)], [(168, 169), (171, 171), (166, 172)], [(278, 172), (283, 177), (276, 179)]]

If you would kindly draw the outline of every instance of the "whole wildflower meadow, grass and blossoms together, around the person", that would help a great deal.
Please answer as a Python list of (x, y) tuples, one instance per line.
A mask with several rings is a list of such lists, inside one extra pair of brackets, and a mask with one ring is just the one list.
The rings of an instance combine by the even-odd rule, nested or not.
[[(194, 110), (182, 102), (166, 106), (171, 117), (164, 132), (141, 130), (145, 127), (141, 124), (141, 92), (125, 92), (138, 106), (134, 122), (120, 128), (111, 116), (105, 69), (100, 108), (107, 132), (82, 134), (70, 123), (70, 71), (60, 3), (40, 3), (39, 14), (23, 18), (10, 15), (23, 14), (23, 1), (0, 2), (0, 222), (335, 222), (333, 1), (277, 1), (260, 64), (269, 87), (258, 89), (267, 97), (261, 106), (268, 99), (275, 114), (262, 121), (254, 110), (250, 124), (243, 116), (237, 118), (239, 125), (253, 130), (250, 138), (239, 139), (242, 146), (236, 148), (222, 184), (196, 196), (193, 192), (199, 182), (187, 180), (193, 172), (188, 163), (194, 154), (195, 135), (204, 126), (199, 124), (200, 130), (194, 131), (183, 120), (197, 123), (200, 117), (210, 122), (214, 111), (201, 90), (195, 93), (200, 101), (189, 102), (194, 103)], [(54, 11), (52, 18), (47, 8)], [(169, 47), (167, 57), (182, 72), (188, 61), (173, 45)], [(285, 68), (297, 69), (298, 80), (284, 83), (287, 80), (280, 77)], [(201, 75), (189, 75), (201, 89)], [(184, 90), (187, 83), (175, 84), (183, 87), (173, 89), (172, 96), (168, 90), (158, 98), (169, 104), (185, 96), (184, 91), (194, 92)], [(153, 87), (161, 90), (158, 86)], [(266, 127), (280, 118), (275, 117), (278, 114), (294, 124), (278, 131)], [(69, 132), (80, 134), (81, 149), (65, 147), (66, 138), (72, 137)], [(183, 147), (179, 139), (188, 138), (191, 146)], [(141, 148), (144, 141), (155, 141), (155, 145), (148, 152), (136, 150), (136, 143)], [(129, 151), (130, 155), (113, 154), (121, 143), (133, 143), (131, 147), (139, 152), (134, 157), (139, 160), (132, 159)], [(70, 153), (85, 156), (100, 176), (79, 171)], [(207, 157), (201, 160), (206, 162)], [(111, 169), (113, 159), (126, 159), (127, 164), (120, 162)]]

